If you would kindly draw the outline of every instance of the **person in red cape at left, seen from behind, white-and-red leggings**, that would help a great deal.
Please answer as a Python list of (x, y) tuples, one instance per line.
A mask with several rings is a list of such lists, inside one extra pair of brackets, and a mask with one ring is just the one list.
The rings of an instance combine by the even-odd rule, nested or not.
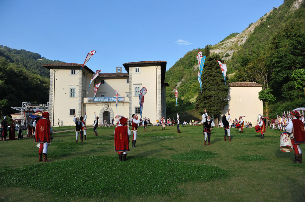
[[(42, 113), (42, 119), (36, 124), (35, 142), (40, 143), (39, 147), (39, 159), (38, 161), (48, 162), (51, 160), (47, 159), (48, 145), (51, 143), (51, 135), (53, 134), (52, 126), (49, 121), (49, 113), (47, 111)], [(42, 160), (43, 156), (43, 160)]]

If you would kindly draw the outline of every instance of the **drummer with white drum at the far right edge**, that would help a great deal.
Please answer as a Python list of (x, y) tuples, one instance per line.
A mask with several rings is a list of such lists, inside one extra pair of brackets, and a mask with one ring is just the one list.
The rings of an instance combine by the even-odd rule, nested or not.
[(289, 122), (285, 130), (288, 137), (291, 139), (292, 148), (294, 150), (294, 162), (302, 163), (302, 150), (300, 144), (305, 143), (305, 129), (303, 122), (299, 119), (300, 113), (298, 111), (290, 112), (292, 120)]

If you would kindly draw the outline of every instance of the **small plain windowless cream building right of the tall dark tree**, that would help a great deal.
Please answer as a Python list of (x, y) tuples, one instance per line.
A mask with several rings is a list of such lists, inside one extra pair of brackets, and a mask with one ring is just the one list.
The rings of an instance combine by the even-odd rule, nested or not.
[[(228, 117), (228, 109), (232, 121), (239, 116), (246, 116), (242, 119), (251, 122), (252, 127), (257, 123), (258, 114), (263, 115), (263, 101), (258, 98), (258, 93), (262, 90), (262, 85), (256, 82), (229, 83), (228, 101), (224, 108), (224, 115)], [(222, 117), (219, 117), (221, 120)]]

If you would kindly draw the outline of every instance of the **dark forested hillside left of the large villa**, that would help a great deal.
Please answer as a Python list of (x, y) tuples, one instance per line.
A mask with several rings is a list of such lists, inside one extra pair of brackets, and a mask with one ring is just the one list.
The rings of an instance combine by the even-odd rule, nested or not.
[(23, 101), (38, 104), (49, 101), (50, 73), (41, 67), (45, 63), (62, 62), (0, 45), (0, 107), (7, 100), (2, 114), (16, 113), (11, 106), (21, 106)]

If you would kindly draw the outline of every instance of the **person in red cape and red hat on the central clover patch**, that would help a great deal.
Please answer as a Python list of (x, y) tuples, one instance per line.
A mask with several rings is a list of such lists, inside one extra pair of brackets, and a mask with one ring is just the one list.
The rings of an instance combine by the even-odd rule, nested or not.
[(114, 151), (119, 153), (120, 161), (126, 161), (129, 151), (129, 138), (131, 132), (128, 130), (127, 118), (120, 118), (120, 124), (114, 130)]

